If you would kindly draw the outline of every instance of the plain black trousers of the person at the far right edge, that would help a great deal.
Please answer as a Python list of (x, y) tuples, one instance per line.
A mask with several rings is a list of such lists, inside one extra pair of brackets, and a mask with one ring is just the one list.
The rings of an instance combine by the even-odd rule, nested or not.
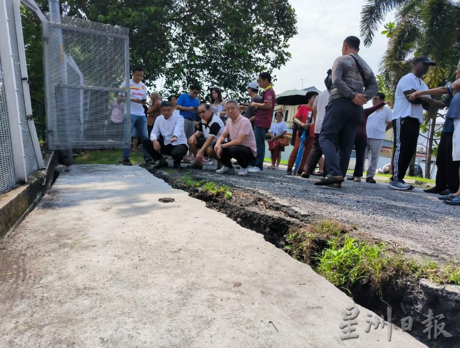
[(452, 161), (452, 132), (442, 132), (436, 156), (436, 188), (458, 190), (458, 165), (460, 161)]

